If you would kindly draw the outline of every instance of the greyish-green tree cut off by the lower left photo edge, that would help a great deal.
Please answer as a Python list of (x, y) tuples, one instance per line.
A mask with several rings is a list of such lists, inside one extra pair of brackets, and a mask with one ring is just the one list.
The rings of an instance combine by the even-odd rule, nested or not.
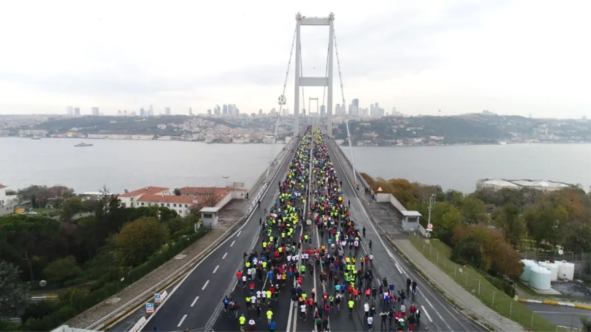
[(17, 317), (27, 301), (27, 289), (19, 275), (20, 271), (14, 265), (0, 261), (0, 318)]

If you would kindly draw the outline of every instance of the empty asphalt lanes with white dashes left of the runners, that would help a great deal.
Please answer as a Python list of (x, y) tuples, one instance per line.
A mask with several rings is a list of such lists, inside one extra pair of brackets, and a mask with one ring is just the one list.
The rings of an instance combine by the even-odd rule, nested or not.
[(191, 270), (168, 295), (157, 313), (151, 316), (142, 331), (152, 331), (154, 327), (159, 332), (183, 331), (185, 328), (203, 330), (210, 319), (214, 321), (218, 317), (214, 316), (216, 307), (221, 306), (223, 297), (229, 294), (231, 286), (235, 284), (236, 271), (242, 267), (242, 254), (251, 249), (258, 237), (259, 218), (263, 217), (263, 209), (274, 203), (279, 193), (275, 184), (285, 177), (285, 168), (293, 155), (290, 152), (271, 181), (267, 194), (261, 198), (261, 209), (252, 214), (242, 230), (229, 237)]

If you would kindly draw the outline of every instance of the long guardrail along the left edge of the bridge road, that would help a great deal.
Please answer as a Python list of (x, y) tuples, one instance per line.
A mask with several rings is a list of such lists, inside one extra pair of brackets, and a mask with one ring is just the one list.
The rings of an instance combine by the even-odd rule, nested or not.
[[(295, 138), (292, 141), (295, 144), (298, 141), (298, 139)], [(291, 142), (290, 142), (290, 144), (291, 144)], [(280, 161), (277, 163), (277, 167), (275, 167), (274, 171), (271, 173), (271, 176), (269, 177), (270, 179), (274, 179), (277, 176), (278, 172), (280, 171), (281, 165), (285, 162), (287, 157), (290, 155), (290, 151), (291, 151), (290, 144), (285, 146), (284, 151), (283, 151), (283, 155), (281, 156), (281, 158), (280, 158), (280, 156), (277, 156), (277, 158), (280, 158)], [(291, 144), (291, 145), (293, 147), (293, 144)], [(276, 160), (277, 160), (277, 158), (276, 158)], [(264, 171), (265, 176), (266, 176), (266, 172), (267, 172), (267, 169), (265, 168), (265, 171)], [(259, 177), (259, 179), (260, 178), (261, 177)], [(272, 181), (272, 180), (269, 180), (269, 181)], [(255, 185), (253, 185), (253, 187), (256, 187), (256, 183), (255, 183)], [(211, 245), (207, 246), (207, 248), (205, 248), (199, 255), (195, 256), (194, 258), (191, 258), (189, 260), (189, 262), (187, 262), (183, 266), (181, 266), (176, 272), (167, 276), (167, 278), (162, 279), (160, 282), (158, 282), (154, 286), (148, 288), (146, 291), (142, 292), (137, 297), (133, 298), (132, 300), (129, 300), (125, 304), (121, 305), (121, 307), (119, 307), (116, 310), (113, 310), (111, 313), (105, 315), (105, 317), (100, 318), (100, 320), (96, 321), (95, 323), (90, 324), (90, 326), (87, 326), (86, 329), (87, 330), (100, 330), (100, 328), (105, 327), (107, 324), (111, 323), (113, 320), (116, 320), (117, 318), (121, 317), (122, 315), (128, 313), (129, 308), (135, 308), (138, 305), (142, 304), (143, 302), (148, 301), (149, 298), (154, 296), (155, 292), (159, 291), (165, 285), (174, 281), (174, 279), (178, 278), (179, 276), (181, 276), (181, 275), (185, 274), (187, 271), (189, 271), (189, 269), (192, 268), (197, 262), (201, 261), (203, 258), (205, 258), (205, 256), (209, 255), (210, 251), (212, 251), (220, 243), (222, 243), (223, 241), (228, 239), (230, 234), (232, 234), (235, 231), (236, 227), (238, 227), (240, 224), (243, 224), (248, 221), (252, 212), (256, 208), (256, 202), (259, 200), (260, 197), (262, 197), (265, 194), (267, 187), (268, 187), (268, 183), (264, 183), (261, 187), (261, 190), (259, 190), (259, 193), (256, 195), (254, 203), (251, 204), (251, 207), (248, 209), (245, 216), (241, 217), (241, 219), (238, 219), (238, 221), (236, 223), (232, 224), (232, 226), (230, 226), (230, 228), (228, 230), (226, 230), (226, 232), (223, 233), (222, 236), (220, 236), (217, 240), (215, 240)], [(90, 308), (89, 310), (92, 310), (92, 308)]]

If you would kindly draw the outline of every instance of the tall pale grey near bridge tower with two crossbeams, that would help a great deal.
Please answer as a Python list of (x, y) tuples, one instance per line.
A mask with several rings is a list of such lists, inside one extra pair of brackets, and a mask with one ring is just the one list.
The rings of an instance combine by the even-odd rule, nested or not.
[[(330, 13), (329, 17), (304, 17), (300, 13), (296, 15), (296, 77), (294, 84), (294, 136), (300, 132), (300, 87), (303, 86), (324, 86), (327, 87), (326, 107), (326, 133), (332, 136), (332, 108), (333, 108), (333, 48), (335, 43), (335, 14)], [(301, 76), (301, 44), (300, 27), (302, 25), (314, 25), (329, 27), (329, 50), (327, 60), (327, 74), (322, 77)]]

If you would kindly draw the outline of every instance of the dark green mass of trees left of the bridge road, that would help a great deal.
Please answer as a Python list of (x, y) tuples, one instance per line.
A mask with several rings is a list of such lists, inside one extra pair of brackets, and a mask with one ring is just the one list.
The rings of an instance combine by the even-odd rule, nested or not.
[[(0, 217), (2, 331), (15, 328), (2, 321), (14, 317), (23, 322), (18, 331), (48, 331), (137, 281), (206, 232), (194, 232), (197, 213), (183, 218), (165, 207), (122, 207), (106, 188), (98, 199), (83, 199), (72, 190), (41, 198), (46, 189), (30, 187), (28, 195), (40, 206), (60, 200), (58, 216)], [(80, 213), (85, 216), (75, 217)], [(42, 287), (67, 290), (59, 291), (59, 301), (28, 304), (27, 292)]]

